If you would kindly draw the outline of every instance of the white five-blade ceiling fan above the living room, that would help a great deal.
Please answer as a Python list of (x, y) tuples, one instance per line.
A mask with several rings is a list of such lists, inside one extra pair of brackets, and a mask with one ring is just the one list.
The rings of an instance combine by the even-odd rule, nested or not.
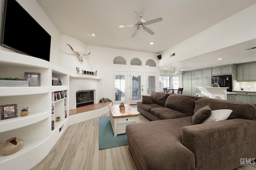
[(132, 34), (132, 37), (134, 37), (136, 35), (136, 33), (142, 28), (144, 29), (145, 31), (147, 31), (148, 33), (150, 33), (151, 35), (154, 35), (154, 32), (149, 29), (148, 27), (146, 27), (146, 25), (150, 25), (152, 23), (156, 23), (156, 22), (160, 22), (163, 20), (163, 18), (156, 18), (154, 20), (149, 20), (149, 21), (145, 21), (143, 19), (141, 19), (142, 17), (142, 14), (140, 14), (140, 12), (138, 11), (134, 11), (135, 13), (135, 16), (136, 16), (136, 23), (135, 25), (120, 25), (119, 27), (120, 28), (123, 28), (123, 27), (136, 27), (134, 33)]

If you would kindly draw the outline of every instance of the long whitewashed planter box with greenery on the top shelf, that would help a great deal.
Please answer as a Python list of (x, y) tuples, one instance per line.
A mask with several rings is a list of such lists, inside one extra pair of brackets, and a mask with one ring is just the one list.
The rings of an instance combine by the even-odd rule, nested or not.
[[(22, 80), (22, 81), (21, 81)], [(28, 80), (23, 78), (0, 77), (0, 87), (23, 87), (28, 86)]]

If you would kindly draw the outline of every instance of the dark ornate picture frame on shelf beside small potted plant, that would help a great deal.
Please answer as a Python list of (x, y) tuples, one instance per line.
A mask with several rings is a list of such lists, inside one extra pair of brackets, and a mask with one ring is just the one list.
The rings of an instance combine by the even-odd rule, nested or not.
[(1, 105), (1, 120), (18, 117), (17, 104)]

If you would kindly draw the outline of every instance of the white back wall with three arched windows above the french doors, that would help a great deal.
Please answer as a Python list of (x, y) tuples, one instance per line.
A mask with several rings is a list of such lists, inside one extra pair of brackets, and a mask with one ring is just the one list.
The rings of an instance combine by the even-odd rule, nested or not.
[[(145, 53), (138, 51), (128, 51), (121, 49), (112, 49), (106, 47), (97, 47), (87, 45), (90, 54), (90, 63), (92, 68), (97, 70), (98, 76), (102, 79), (99, 80), (99, 93), (101, 97), (110, 98), (114, 100), (114, 73), (125, 73), (127, 76), (132, 73), (141, 73), (144, 77), (143, 86), (146, 87), (146, 75), (156, 76), (156, 91), (159, 91), (159, 67), (157, 55), (153, 53)], [(126, 65), (113, 64), (113, 59), (117, 56), (126, 59)], [(138, 58), (142, 61), (142, 66), (131, 66), (130, 61), (133, 58)], [(156, 67), (146, 67), (146, 61), (152, 59), (156, 62)], [(127, 82), (127, 87), (130, 82)], [(127, 89), (128, 90), (128, 89)], [(144, 94), (146, 89), (144, 88)], [(130, 95), (130, 94), (128, 94)], [(129, 100), (129, 96), (127, 96)]]

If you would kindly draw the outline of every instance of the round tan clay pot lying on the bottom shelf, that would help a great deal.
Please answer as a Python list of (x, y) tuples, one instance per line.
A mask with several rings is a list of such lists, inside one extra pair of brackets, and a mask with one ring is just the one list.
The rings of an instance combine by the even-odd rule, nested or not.
[(2, 155), (9, 155), (18, 152), (23, 147), (24, 141), (22, 139), (17, 139), (16, 137), (10, 138), (6, 141), (4, 145), (0, 148), (0, 153)]

